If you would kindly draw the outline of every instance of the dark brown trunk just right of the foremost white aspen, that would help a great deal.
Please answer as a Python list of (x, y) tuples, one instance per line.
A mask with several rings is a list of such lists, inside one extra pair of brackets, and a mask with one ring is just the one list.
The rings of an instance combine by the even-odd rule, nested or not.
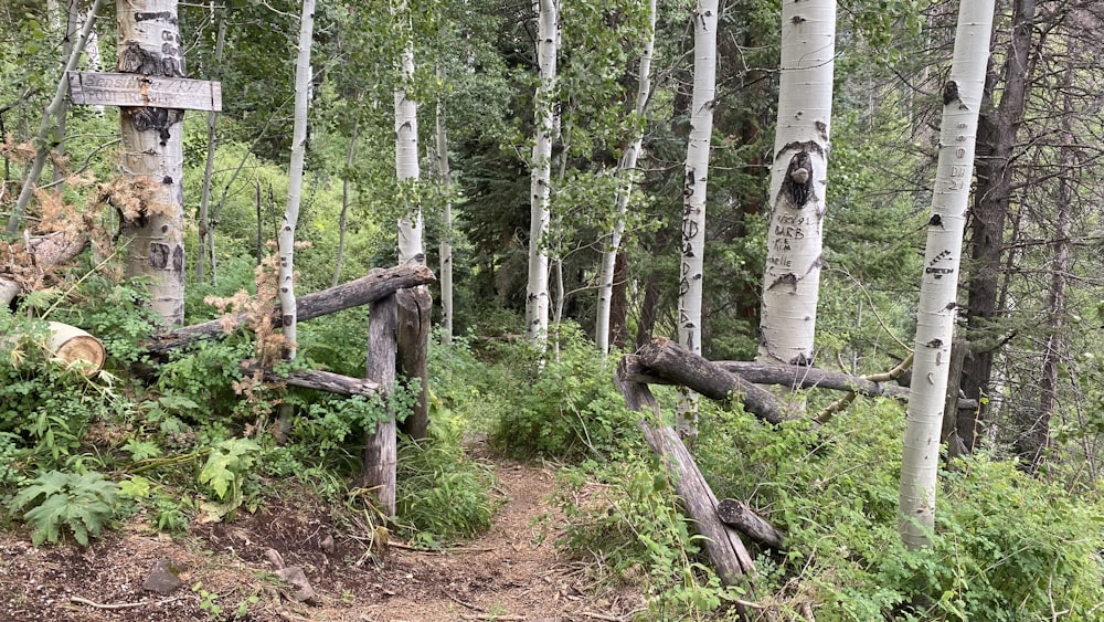
[[(963, 392), (981, 405), (974, 415), (958, 419), (958, 436), (967, 452), (977, 444), (976, 431), (987, 414), (992, 362), (1002, 345), (994, 323), (1004, 313), (998, 303), (1000, 257), (1005, 252), (1005, 224), (1012, 192), (1012, 155), (1023, 119), (1029, 84), (1028, 55), (1031, 50), (1036, 0), (1012, 2), (1012, 36), (1004, 67), (1004, 87), (996, 110), (981, 115), (978, 128), (977, 191), (970, 218), (970, 263), (967, 285), (966, 326), (974, 345), (963, 370)], [(996, 81), (992, 81), (996, 82)], [(987, 83), (986, 99), (996, 84)]]

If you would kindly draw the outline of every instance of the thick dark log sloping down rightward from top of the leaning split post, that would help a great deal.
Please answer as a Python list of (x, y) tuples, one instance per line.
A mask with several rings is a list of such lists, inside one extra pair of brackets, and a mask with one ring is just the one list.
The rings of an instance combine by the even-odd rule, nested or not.
[(734, 393), (744, 410), (768, 423), (782, 423), (785, 418), (778, 401), (765, 389), (712, 363), (678, 344), (657, 337), (640, 348), (636, 357), (651, 373), (716, 401), (728, 401)]

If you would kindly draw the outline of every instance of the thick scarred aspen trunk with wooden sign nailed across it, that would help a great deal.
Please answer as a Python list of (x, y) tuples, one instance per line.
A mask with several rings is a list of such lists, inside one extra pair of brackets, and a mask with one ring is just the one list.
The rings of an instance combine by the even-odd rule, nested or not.
[(184, 77), (178, 0), (116, 0), (119, 73), (66, 74), (74, 104), (119, 106), (123, 175), (141, 204), (123, 210), (126, 273), (148, 280), (166, 326), (184, 320), (184, 110), (222, 108), (219, 83)]

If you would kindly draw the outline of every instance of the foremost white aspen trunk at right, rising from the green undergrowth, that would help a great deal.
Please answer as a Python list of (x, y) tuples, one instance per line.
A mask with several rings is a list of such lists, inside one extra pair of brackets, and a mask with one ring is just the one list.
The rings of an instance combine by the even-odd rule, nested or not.
[(901, 540), (911, 549), (927, 546), (935, 527), (940, 431), (992, 4), (994, 0), (959, 4), (954, 61), (944, 89), (940, 159), (927, 226), (912, 392), (901, 460), (900, 531)]

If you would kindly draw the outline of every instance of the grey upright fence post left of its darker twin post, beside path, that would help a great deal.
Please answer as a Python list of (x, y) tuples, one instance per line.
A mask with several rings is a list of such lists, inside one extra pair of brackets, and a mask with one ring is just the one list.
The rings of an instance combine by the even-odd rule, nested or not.
[[(397, 347), (399, 316), (395, 297), (388, 296), (372, 304), (368, 323), (368, 380), (380, 386), (383, 399), (395, 390), (395, 350)], [(386, 415), (365, 431), (364, 487), (373, 491), (380, 502), (380, 512), (395, 515), (395, 413), (388, 403)]]

